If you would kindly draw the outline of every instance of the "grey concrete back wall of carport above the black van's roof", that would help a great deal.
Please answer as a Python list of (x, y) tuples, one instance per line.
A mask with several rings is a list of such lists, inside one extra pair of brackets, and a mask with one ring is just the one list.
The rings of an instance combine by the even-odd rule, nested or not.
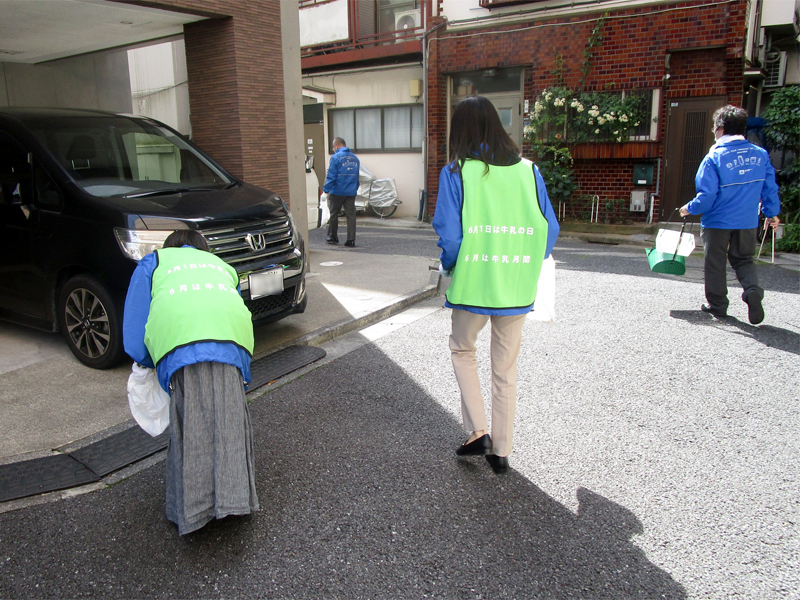
[(0, 62), (0, 106), (49, 106), (131, 112), (125, 51), (38, 65)]

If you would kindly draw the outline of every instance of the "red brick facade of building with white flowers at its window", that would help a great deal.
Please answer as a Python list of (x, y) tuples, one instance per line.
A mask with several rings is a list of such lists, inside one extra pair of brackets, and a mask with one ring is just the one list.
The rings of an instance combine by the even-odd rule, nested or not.
[[(598, 194), (616, 200), (618, 217), (644, 220), (644, 213), (629, 213), (633, 165), (663, 156), (666, 107), (670, 99), (727, 96), (742, 103), (742, 53), (745, 39), (746, 0), (720, 4), (675, 2), (610, 12), (594, 49), (586, 90), (660, 88), (659, 139), (650, 143), (622, 144), (618, 148), (583, 149), (576, 160), (578, 194)], [(467, 32), (433, 34), (428, 72), (429, 164), (428, 206), (433, 215), (438, 173), (447, 159), (447, 75), (491, 67), (525, 67), (523, 98), (531, 102), (554, 84), (554, 51), (564, 62), (566, 85), (577, 88), (582, 51), (596, 19), (602, 13), (550, 21), (532, 20)], [(466, 37), (464, 34), (480, 33)], [(669, 79), (665, 60), (670, 56)], [(530, 149), (523, 146), (523, 154)], [(526, 154), (527, 155), (527, 154)], [(609, 157), (615, 158), (609, 158)], [(624, 157), (624, 158), (623, 158)], [(648, 189), (654, 191), (654, 186)], [(578, 204), (577, 199), (575, 203)], [(623, 210), (624, 207), (624, 210)], [(657, 214), (657, 213), (656, 213)], [(602, 217), (602, 213), (601, 213)]]

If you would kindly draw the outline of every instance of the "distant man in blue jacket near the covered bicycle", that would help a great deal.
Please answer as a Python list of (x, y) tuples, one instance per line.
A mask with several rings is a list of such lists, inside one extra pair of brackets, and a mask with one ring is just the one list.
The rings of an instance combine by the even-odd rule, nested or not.
[(322, 191), (328, 194), (328, 208), (331, 211), (328, 237), (325, 240), (329, 244), (339, 243), (339, 211), (344, 207), (347, 218), (347, 241), (344, 245), (348, 248), (354, 248), (356, 245), (356, 193), (360, 167), (358, 157), (350, 152), (345, 141), (342, 138), (335, 138), (328, 176), (322, 188)]

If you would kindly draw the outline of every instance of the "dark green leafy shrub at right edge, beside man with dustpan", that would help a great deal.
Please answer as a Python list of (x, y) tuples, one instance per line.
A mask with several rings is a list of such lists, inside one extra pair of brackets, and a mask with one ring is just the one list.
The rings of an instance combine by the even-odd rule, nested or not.
[[(781, 212), (789, 224), (800, 223), (800, 86), (788, 86), (772, 95), (762, 115), (764, 134), (772, 150), (792, 153), (792, 161), (778, 173)], [(784, 232), (784, 236), (786, 233)], [(787, 242), (791, 243), (791, 242)], [(796, 246), (796, 241), (794, 242)], [(795, 252), (797, 250), (794, 250)]]

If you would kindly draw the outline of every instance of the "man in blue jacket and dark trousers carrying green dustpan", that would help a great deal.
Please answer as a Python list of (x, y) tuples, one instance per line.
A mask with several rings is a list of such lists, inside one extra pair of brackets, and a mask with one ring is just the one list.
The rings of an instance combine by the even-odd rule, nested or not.
[(705, 252), (705, 288), (708, 304), (700, 308), (715, 317), (728, 314), (726, 258), (742, 285), (742, 300), (753, 325), (764, 320), (764, 290), (758, 285), (753, 263), (758, 229), (758, 207), (773, 227), (778, 226), (781, 203), (775, 169), (763, 148), (745, 140), (747, 112), (723, 106), (714, 113), (714, 139), (695, 176), (697, 194), (681, 207), (681, 216), (702, 215)]

